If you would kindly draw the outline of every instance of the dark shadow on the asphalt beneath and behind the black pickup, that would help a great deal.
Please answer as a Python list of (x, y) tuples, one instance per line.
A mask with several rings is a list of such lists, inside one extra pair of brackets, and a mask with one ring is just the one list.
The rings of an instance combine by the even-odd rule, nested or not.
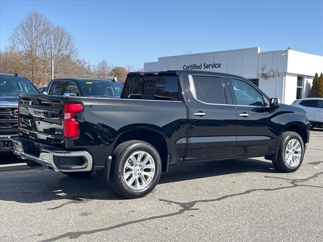
[[(170, 165), (169, 172), (161, 174), (159, 184), (244, 172), (277, 173), (278, 171), (273, 168), (272, 162), (256, 159), (173, 164)], [(87, 178), (73, 178), (46, 167), (0, 172), (0, 200), (2, 201), (40, 203), (62, 199), (70, 200), (65, 201), (64, 204), (66, 204), (124, 198), (98, 179), (95, 173)]]

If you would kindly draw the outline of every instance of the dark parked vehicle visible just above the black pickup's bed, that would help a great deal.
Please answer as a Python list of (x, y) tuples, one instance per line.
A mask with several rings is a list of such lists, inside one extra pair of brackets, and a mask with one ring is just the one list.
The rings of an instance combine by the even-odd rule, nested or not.
[(53, 79), (47, 88), (48, 95), (120, 98), (123, 84), (115, 80), (90, 78)]

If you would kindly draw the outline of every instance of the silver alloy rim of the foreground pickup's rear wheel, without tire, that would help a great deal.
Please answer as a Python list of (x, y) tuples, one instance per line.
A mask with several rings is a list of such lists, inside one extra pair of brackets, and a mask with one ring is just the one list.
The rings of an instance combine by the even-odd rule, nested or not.
[(155, 162), (145, 151), (135, 151), (127, 159), (123, 168), (123, 178), (133, 190), (146, 188), (155, 174)]

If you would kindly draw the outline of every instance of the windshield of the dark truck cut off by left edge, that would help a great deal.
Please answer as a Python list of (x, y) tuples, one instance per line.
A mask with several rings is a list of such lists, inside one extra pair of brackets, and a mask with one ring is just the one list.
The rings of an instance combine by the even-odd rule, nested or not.
[(38, 94), (37, 89), (24, 77), (0, 76), (0, 95)]

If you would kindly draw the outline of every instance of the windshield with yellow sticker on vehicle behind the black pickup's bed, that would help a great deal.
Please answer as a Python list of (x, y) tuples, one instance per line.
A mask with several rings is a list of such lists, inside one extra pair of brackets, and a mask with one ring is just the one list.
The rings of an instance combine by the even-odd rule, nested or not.
[(110, 80), (82, 80), (80, 81), (80, 84), (87, 97), (119, 98), (123, 88), (123, 84), (120, 82), (113, 82)]

